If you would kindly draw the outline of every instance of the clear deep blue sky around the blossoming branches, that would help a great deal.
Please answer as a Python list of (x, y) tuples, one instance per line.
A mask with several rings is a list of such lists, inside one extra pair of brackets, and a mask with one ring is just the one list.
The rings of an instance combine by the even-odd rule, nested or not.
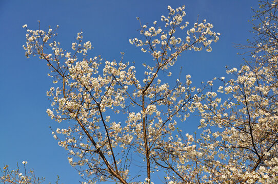
[[(139, 37), (140, 28), (136, 17), (143, 24), (159, 21), (167, 15), (167, 6), (185, 5), (185, 20), (190, 26), (199, 16), (214, 25), (213, 31), (220, 32), (220, 40), (212, 44), (212, 52), (184, 53), (176, 64), (183, 66), (183, 74), (190, 74), (195, 85), (213, 77), (225, 75), (225, 66), (240, 66), (242, 56), (234, 43), (245, 44), (252, 38), (250, 7), (257, 8), (253, 0), (184, 0), (184, 1), (0, 1), (0, 166), (16, 166), (27, 160), (37, 176), (54, 181), (59, 175), (64, 183), (78, 183), (80, 177), (70, 167), (67, 152), (57, 145), (49, 126), (57, 123), (50, 120), (46, 109), (50, 107), (46, 91), (52, 86), (47, 77), (46, 63), (37, 58), (25, 58), (25, 29), (37, 29), (37, 20), (42, 29), (59, 25), (57, 39), (69, 49), (76, 33), (84, 32), (84, 40), (90, 40), (92, 55), (101, 54), (107, 60), (120, 60), (135, 64), (149, 59), (147, 53), (129, 44), (128, 39)], [(190, 27), (189, 26), (189, 27)], [(140, 72), (140, 71), (139, 71)], [(141, 71), (142, 72), (142, 71)], [(197, 124), (197, 122), (196, 122)], [(188, 129), (194, 131), (194, 129)]]

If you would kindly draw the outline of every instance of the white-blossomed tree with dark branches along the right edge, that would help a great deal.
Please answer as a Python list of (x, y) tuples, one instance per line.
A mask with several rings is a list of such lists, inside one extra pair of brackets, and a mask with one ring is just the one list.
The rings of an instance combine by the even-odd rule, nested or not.
[(223, 86), (207, 92), (200, 108), (207, 182), (278, 182), (277, 1), (260, 1), (253, 12), (254, 41), (237, 45), (251, 59), (228, 69), (231, 79), (221, 78)]

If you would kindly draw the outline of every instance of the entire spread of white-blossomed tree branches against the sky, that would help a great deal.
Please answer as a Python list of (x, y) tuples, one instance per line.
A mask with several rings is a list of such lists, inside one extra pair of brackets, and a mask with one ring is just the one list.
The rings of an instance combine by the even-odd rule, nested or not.
[[(178, 56), (188, 50), (210, 52), (220, 33), (206, 20), (188, 28), (184, 6), (168, 10), (152, 26), (140, 21), (140, 38), (129, 39), (152, 56), (143, 73), (123, 59), (90, 58), (93, 47), (82, 32), (66, 51), (55, 40), (58, 26), (47, 31), (23, 26), (26, 56), (45, 60), (51, 70), (47, 113), (69, 125), (52, 134), (68, 150), (70, 165), (84, 184), (153, 183), (156, 172), (169, 184), (278, 182), (276, 2), (261, 2), (254, 11), (254, 42), (239, 45), (252, 59), (238, 70), (228, 69), (231, 77), (220, 78), (219, 87), (213, 81), (195, 87), (190, 75), (185, 81), (171, 78)], [(164, 82), (163, 74), (174, 82)], [(194, 137), (179, 128), (193, 112), (200, 114), (202, 130)], [(7, 167), (1, 180), (40, 182)]]

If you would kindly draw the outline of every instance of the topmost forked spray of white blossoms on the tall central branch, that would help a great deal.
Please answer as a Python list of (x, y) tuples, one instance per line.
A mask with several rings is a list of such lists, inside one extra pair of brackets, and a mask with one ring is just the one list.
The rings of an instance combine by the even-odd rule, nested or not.
[(129, 39), (129, 42), (141, 47), (143, 52), (148, 51), (154, 60), (168, 59), (172, 64), (172, 60), (185, 50), (201, 51), (206, 48), (206, 51), (210, 52), (212, 50), (210, 44), (219, 40), (220, 33), (211, 31), (213, 25), (206, 20), (201, 24), (195, 23), (193, 28), (187, 30), (188, 36), (184, 39), (174, 36), (178, 28), (184, 30), (189, 25), (189, 22), (183, 24), (183, 17), (186, 15), (184, 9), (184, 6), (176, 10), (168, 6), (168, 16), (161, 16), (163, 27), (158, 27), (157, 21), (154, 21), (153, 26), (149, 28), (143, 25), (141, 34), (144, 39), (133, 38)]

